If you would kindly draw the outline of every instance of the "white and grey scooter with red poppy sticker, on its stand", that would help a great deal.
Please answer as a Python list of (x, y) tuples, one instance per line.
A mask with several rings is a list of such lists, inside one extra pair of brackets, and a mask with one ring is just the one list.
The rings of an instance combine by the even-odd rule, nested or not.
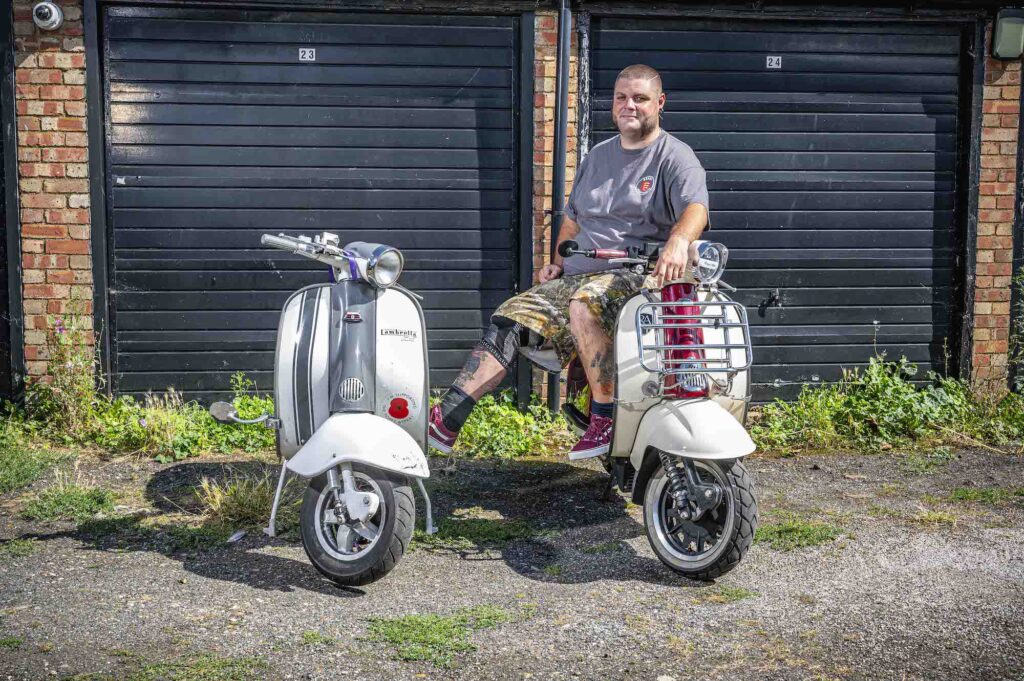
[(397, 285), (401, 254), (380, 244), (344, 248), (338, 237), (263, 235), (262, 243), (331, 266), (333, 283), (296, 291), (285, 303), (274, 360), (275, 417), (224, 423), (278, 429), (284, 463), (266, 533), (286, 476), (309, 479), (300, 511), (302, 545), (322, 573), (345, 586), (384, 577), (413, 536), (415, 480), (433, 533), (426, 438), (427, 343), (416, 294)]

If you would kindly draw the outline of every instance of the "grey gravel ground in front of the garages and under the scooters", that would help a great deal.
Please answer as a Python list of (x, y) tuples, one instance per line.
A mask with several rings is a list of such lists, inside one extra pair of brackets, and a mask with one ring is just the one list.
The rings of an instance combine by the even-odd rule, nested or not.
[[(1024, 503), (942, 501), (962, 486), (1024, 486), (1022, 459), (962, 452), (927, 474), (888, 456), (749, 460), (763, 523), (792, 511), (843, 534), (788, 552), (756, 543), (717, 585), (663, 567), (640, 509), (599, 500), (592, 463), (458, 461), (433, 480), (438, 516), (479, 507), (536, 536), (421, 547), (351, 590), (321, 579), (295, 543), (250, 534), (180, 553), (89, 539), (72, 523), (27, 523), (10, 495), (0, 540), (35, 537), (37, 550), (0, 557), (0, 679), (124, 678), (142, 661), (200, 653), (258, 657), (265, 667), (244, 678), (270, 679), (1022, 679)], [(223, 462), (209, 460), (79, 472), (129, 507), (158, 509), (165, 493), (218, 473)], [(724, 587), (753, 593), (709, 598)], [(479, 605), (513, 621), (472, 632), (476, 649), (449, 669), (398, 661), (368, 637), (371, 618)], [(310, 645), (310, 632), (332, 641)]]

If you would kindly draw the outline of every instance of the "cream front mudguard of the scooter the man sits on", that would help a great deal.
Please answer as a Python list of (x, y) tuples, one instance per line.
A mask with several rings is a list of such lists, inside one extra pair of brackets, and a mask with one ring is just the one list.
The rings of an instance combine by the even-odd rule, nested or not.
[(630, 453), (636, 470), (648, 446), (688, 459), (738, 459), (756, 449), (739, 422), (710, 399), (664, 401), (647, 410)]

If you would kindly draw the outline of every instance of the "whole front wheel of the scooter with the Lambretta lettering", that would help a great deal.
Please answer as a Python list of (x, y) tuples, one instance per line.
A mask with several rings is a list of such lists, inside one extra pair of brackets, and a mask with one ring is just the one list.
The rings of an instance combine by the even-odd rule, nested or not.
[(416, 522), (407, 477), (358, 465), (352, 466), (352, 477), (359, 492), (380, 499), (372, 517), (362, 522), (348, 518), (339, 501), (342, 491), (328, 484), (327, 473), (310, 480), (299, 516), (309, 560), (325, 577), (346, 587), (370, 584), (390, 572), (406, 552)]

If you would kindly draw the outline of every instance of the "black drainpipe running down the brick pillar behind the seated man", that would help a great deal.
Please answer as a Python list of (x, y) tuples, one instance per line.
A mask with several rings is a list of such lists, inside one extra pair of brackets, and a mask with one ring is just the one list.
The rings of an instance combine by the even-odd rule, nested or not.
[[(555, 79), (555, 158), (551, 187), (551, 258), (558, 245), (558, 230), (562, 225), (565, 208), (565, 141), (569, 126), (569, 44), (571, 41), (572, 13), (569, 0), (558, 3), (558, 57)], [(557, 413), (561, 401), (561, 374), (548, 375), (548, 409)]]

